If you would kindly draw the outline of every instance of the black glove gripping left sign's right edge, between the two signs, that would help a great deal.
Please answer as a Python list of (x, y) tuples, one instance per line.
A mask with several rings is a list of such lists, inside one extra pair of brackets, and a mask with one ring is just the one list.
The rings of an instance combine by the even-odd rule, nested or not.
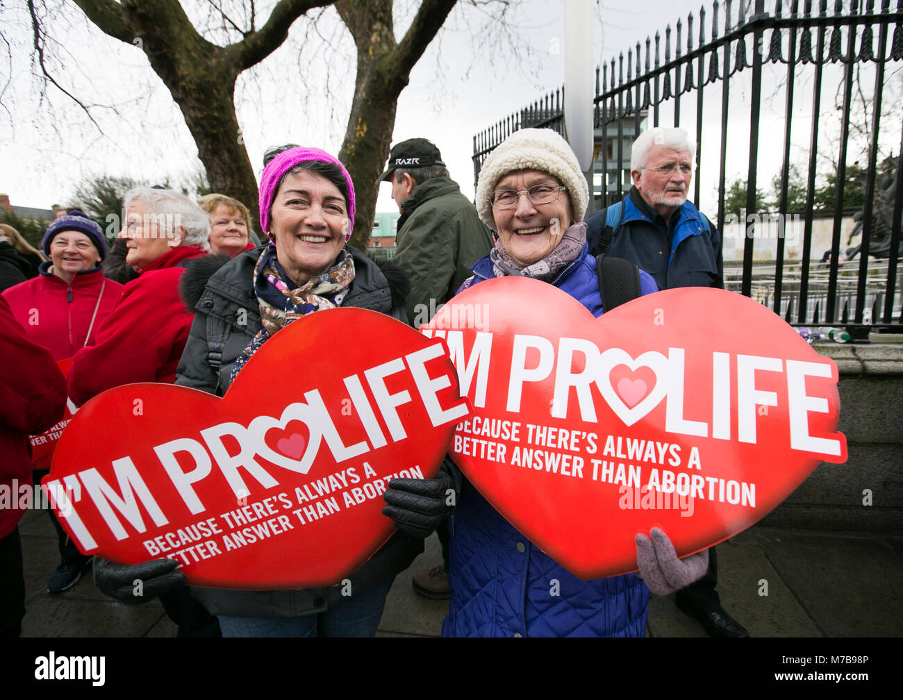
[(452, 480), (444, 471), (435, 479), (393, 479), (383, 493), (383, 515), (411, 537), (430, 537), (451, 510), (446, 505)]

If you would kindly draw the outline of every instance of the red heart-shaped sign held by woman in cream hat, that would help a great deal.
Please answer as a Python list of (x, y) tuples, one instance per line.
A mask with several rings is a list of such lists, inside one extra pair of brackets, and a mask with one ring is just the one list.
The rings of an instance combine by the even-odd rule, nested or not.
[(836, 365), (740, 294), (669, 290), (596, 320), (504, 277), (421, 331), (446, 339), (472, 404), (455, 462), (583, 579), (635, 570), (634, 536), (652, 527), (679, 555), (720, 542), (846, 460)]

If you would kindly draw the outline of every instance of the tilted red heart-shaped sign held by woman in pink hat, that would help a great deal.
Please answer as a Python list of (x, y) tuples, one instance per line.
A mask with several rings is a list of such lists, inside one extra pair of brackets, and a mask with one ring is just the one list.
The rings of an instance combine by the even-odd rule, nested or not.
[(43, 483), (87, 554), (171, 556), (198, 585), (329, 585), (392, 535), (386, 483), (433, 477), (467, 413), (441, 341), (321, 311), (266, 341), (223, 398), (132, 384), (88, 401)]

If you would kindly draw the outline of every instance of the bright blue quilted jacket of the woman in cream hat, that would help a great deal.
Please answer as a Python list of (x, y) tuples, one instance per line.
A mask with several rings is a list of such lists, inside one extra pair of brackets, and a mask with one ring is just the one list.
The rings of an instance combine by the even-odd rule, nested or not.
[[(489, 257), (471, 284), (493, 277)], [(596, 317), (602, 313), (595, 258), (580, 257), (554, 285)], [(642, 294), (656, 291), (640, 272)], [(642, 637), (649, 589), (635, 574), (582, 581), (543, 554), (462, 480), (450, 522), (452, 602), (443, 637)]]

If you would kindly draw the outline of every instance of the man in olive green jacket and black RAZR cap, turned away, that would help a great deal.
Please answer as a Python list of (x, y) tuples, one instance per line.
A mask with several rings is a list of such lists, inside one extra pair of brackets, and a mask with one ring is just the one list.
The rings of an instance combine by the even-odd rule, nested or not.
[(393, 259), (411, 277), (407, 318), (414, 328), (470, 277), (470, 266), (489, 253), (492, 238), (473, 204), (449, 177), (442, 154), (425, 138), (396, 144), (380, 181), (392, 183), (398, 219)]

